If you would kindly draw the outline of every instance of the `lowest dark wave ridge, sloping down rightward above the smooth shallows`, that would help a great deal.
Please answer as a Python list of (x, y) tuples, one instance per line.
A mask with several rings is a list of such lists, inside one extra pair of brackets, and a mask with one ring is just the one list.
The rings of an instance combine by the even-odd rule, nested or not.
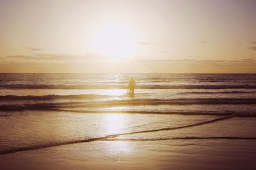
[[(81, 107), (79, 105), (79, 107)], [(143, 111), (143, 110), (115, 110), (114, 109), (95, 109), (95, 108), (83, 108), (78, 109), (76, 105), (71, 105), (70, 107), (63, 105), (47, 105), (47, 104), (26, 104), (26, 105), (0, 105), (0, 111), (54, 111), (54, 112), (74, 112), (74, 113), (84, 113), (84, 114), (179, 114), (179, 115), (202, 115), (202, 116), (230, 116), (236, 114), (237, 117), (256, 117), (256, 112), (253, 111)], [(4, 112), (3, 112), (4, 113)], [(0, 114), (1, 116), (1, 114)], [(10, 116), (4, 113), (3, 117)]]

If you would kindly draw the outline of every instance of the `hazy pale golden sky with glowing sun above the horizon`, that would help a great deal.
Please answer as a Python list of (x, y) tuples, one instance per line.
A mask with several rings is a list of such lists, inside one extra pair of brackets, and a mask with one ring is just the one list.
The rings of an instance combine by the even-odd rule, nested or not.
[(254, 0), (0, 0), (0, 72), (256, 73)]

